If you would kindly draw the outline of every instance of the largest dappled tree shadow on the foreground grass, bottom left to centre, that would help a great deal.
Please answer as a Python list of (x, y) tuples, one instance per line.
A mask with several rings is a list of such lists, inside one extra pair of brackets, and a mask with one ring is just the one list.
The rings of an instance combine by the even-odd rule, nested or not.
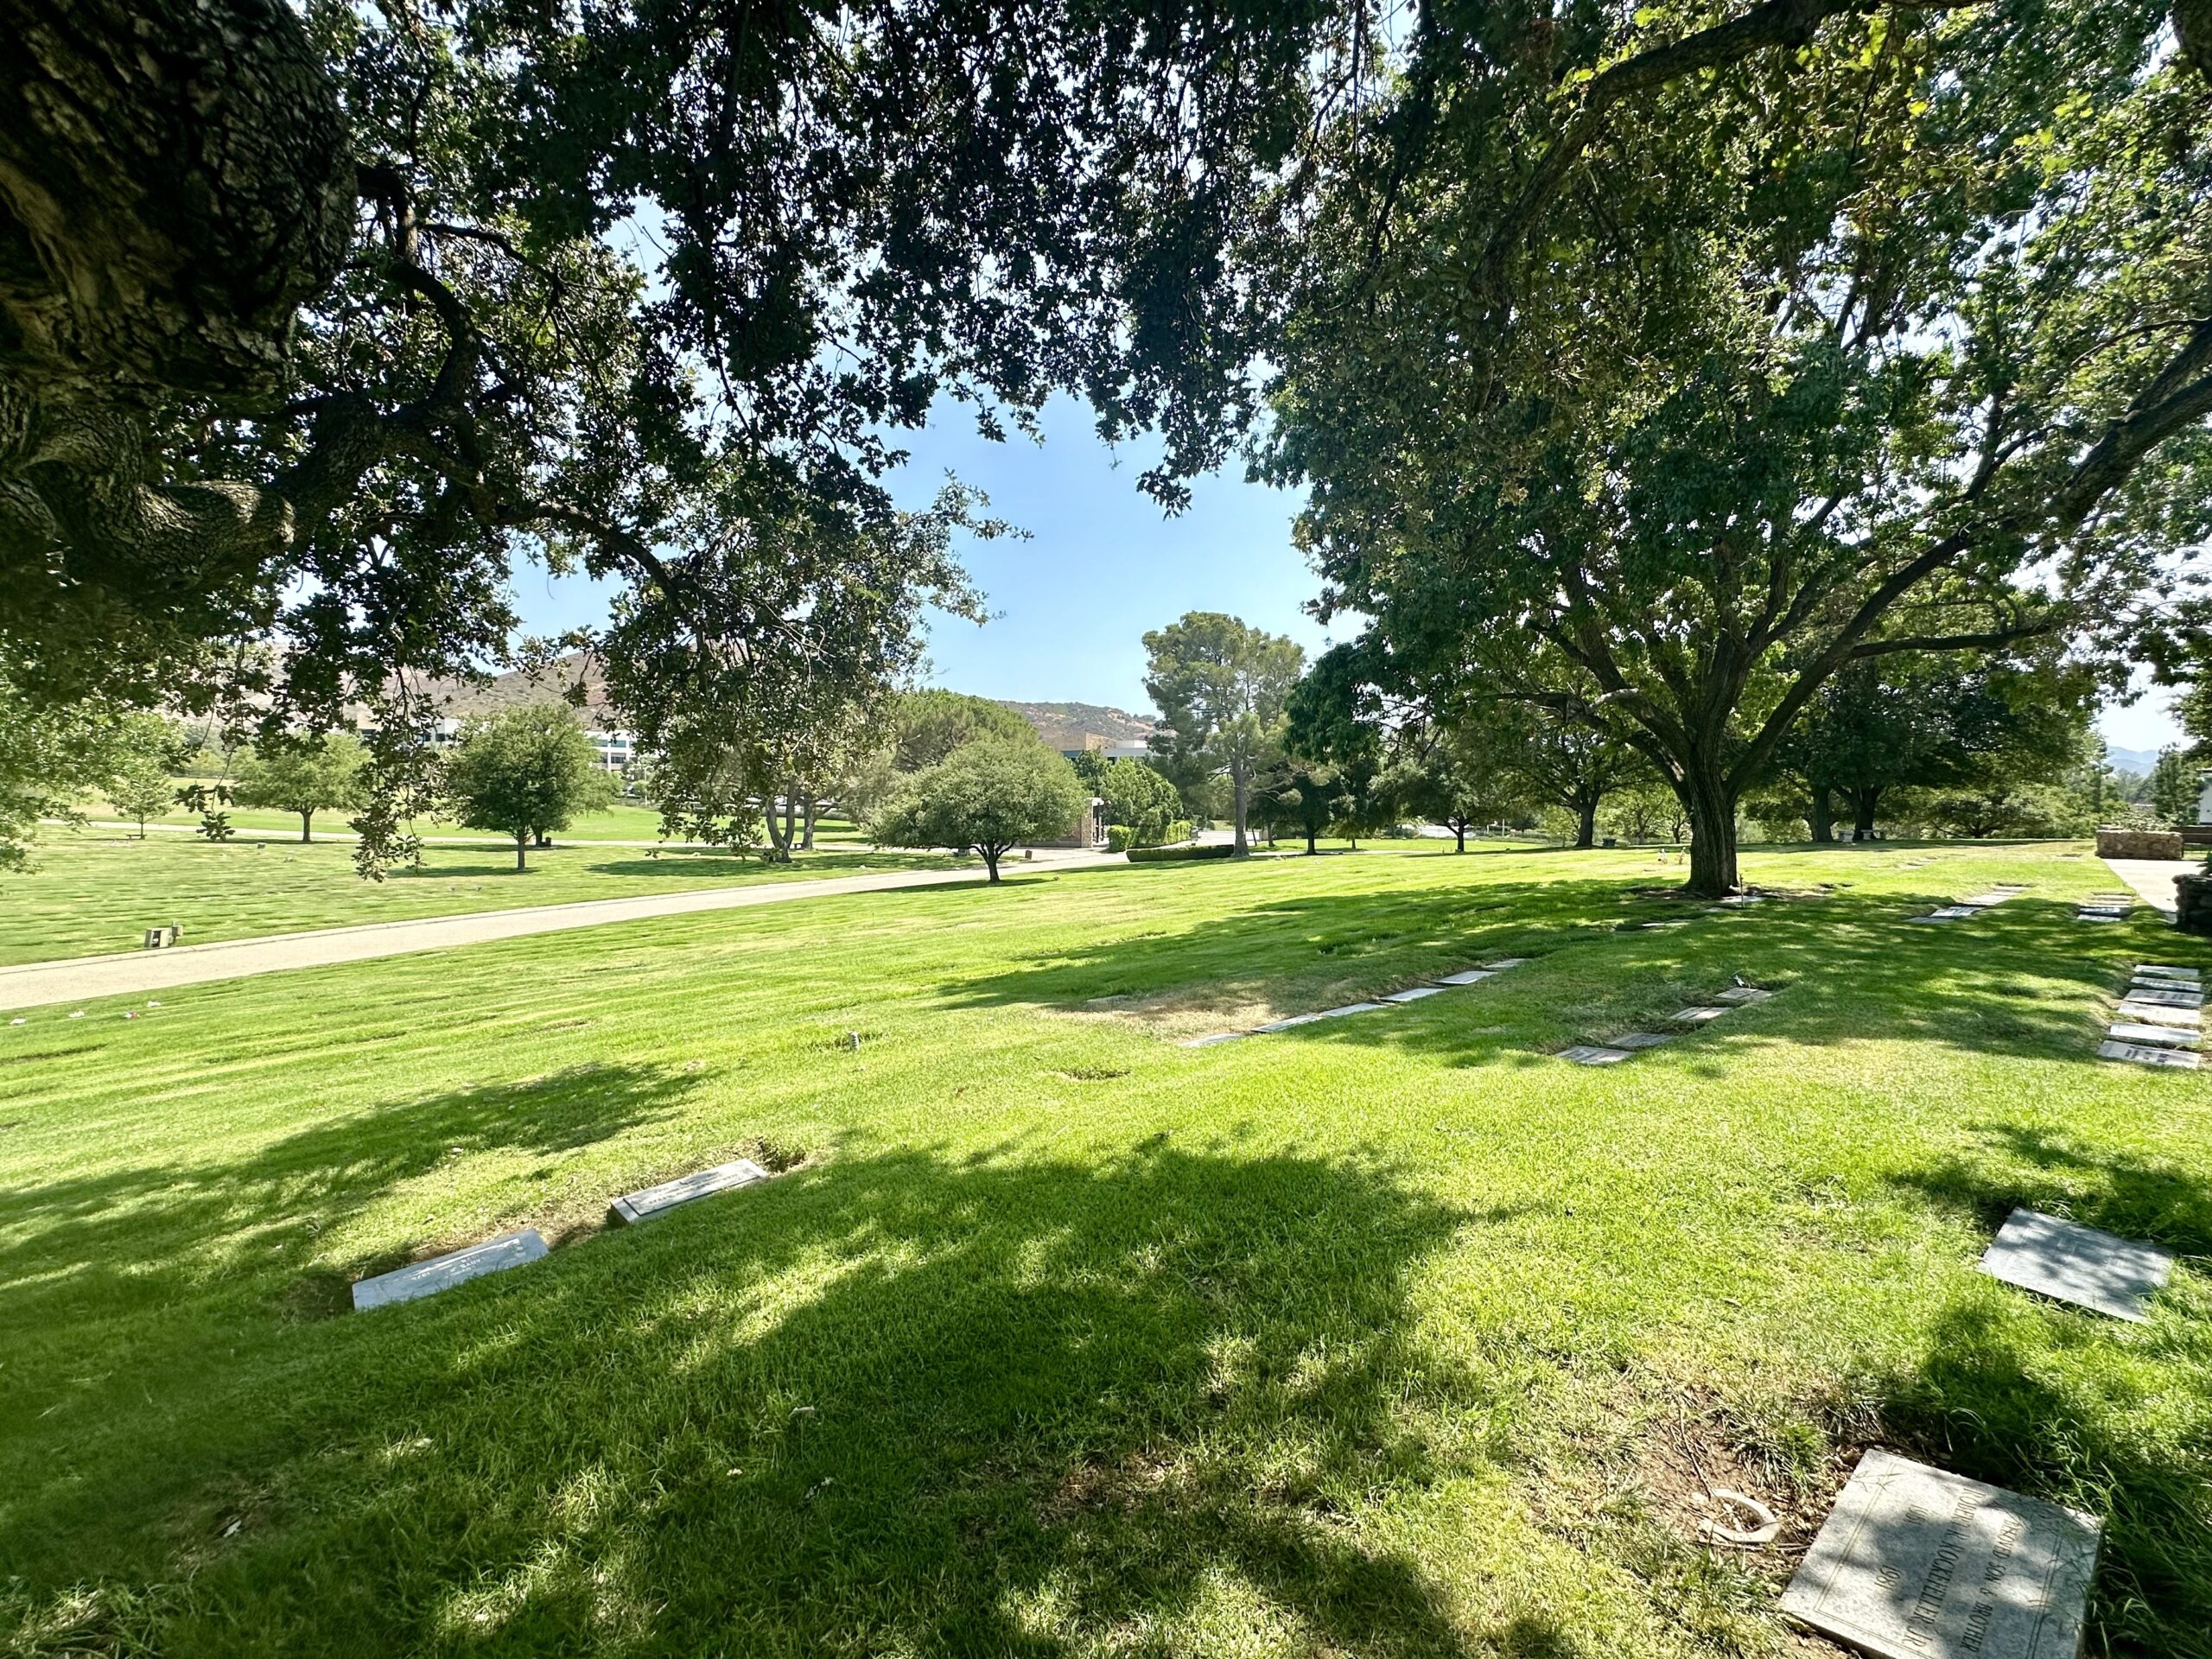
[(1464, 1469), (1422, 1411), (1495, 1405), (1411, 1334), (1413, 1274), (1469, 1225), (1285, 1155), (832, 1159), (296, 1327), (237, 1380), (265, 1416), (153, 1491), (159, 1447), (119, 1425), (13, 1522), (44, 1540), (24, 1571), (46, 1593), (173, 1584), (192, 1537), (190, 1597), (159, 1617), (175, 1655), (591, 1632), (619, 1655), (1044, 1657), (1241, 1630), (1597, 1659), (1542, 1590), (1462, 1626), (1352, 1524)]

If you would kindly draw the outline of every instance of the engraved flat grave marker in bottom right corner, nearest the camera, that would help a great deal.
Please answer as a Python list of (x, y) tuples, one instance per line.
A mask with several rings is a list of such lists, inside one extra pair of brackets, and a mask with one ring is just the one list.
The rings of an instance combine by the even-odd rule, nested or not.
[(1874, 1449), (1783, 1613), (1876, 1659), (2077, 1659), (2104, 1524)]

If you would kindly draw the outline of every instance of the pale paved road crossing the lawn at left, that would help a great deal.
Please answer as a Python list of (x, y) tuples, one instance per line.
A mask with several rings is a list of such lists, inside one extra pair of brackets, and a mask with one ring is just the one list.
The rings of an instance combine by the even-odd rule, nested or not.
[[(1126, 860), (1121, 854), (1104, 852), (1040, 852), (1031, 863), (1015, 863), (1013, 874), (1084, 869), (1093, 865), (1126, 865)], [(179, 984), (201, 984), (206, 980), (237, 980), (248, 973), (283, 973), (288, 969), (327, 967), (332, 962), (367, 962), (378, 956), (447, 951), (456, 945), (482, 945), (526, 933), (566, 933), (571, 927), (637, 922), (653, 916), (692, 916), (697, 911), (743, 909), (748, 905), (787, 905), (799, 898), (883, 894), (898, 891), (900, 887), (956, 887), (980, 880), (980, 869), (891, 869), (880, 876), (821, 876), (812, 880), (754, 883), (752, 887), (712, 887), (690, 894), (591, 898), (577, 905), (531, 905), (526, 909), (431, 916), (416, 922), (367, 922), (363, 927), (327, 927), (316, 933), (263, 933), (261, 938), (219, 940), (215, 945), (173, 945), (161, 951), (73, 956), (62, 962), (0, 967), (0, 1009), (142, 995), (146, 991), (173, 991)]]

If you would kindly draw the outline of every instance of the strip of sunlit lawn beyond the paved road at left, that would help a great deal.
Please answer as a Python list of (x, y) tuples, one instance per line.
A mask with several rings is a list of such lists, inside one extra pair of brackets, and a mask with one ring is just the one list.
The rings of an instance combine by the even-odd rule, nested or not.
[(195, 836), (46, 830), (38, 869), (0, 876), (0, 964), (135, 951), (148, 927), (177, 922), (186, 945), (356, 922), (403, 922), (515, 905), (679, 894), (885, 869), (956, 869), (949, 854), (825, 847), (790, 865), (681, 847), (555, 845), (515, 869), (513, 843), (425, 847), (422, 867), (369, 883), (352, 843), (288, 845)]

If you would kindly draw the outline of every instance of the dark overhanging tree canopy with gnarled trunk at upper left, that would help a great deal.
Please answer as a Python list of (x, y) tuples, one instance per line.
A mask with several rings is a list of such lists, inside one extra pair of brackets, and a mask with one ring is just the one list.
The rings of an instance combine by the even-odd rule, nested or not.
[[(958, 608), (969, 498), (885, 487), (945, 400), (1166, 425), (1175, 500), (1223, 431), (1179, 387), (1241, 356), (1192, 341), (1252, 310), (1217, 254), (1343, 31), (1312, 0), (0, 20), (0, 672), (270, 730), (367, 701), (380, 774), (422, 759), (420, 675), (507, 648), (518, 557), (622, 586), (577, 641), (635, 668), (633, 723), (770, 641), (843, 672), (830, 593), (889, 597), (876, 633)], [(288, 650), (208, 650), (243, 639)]]

